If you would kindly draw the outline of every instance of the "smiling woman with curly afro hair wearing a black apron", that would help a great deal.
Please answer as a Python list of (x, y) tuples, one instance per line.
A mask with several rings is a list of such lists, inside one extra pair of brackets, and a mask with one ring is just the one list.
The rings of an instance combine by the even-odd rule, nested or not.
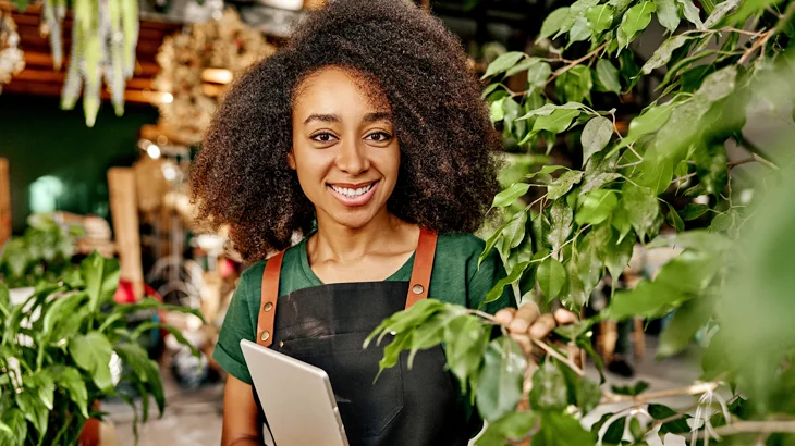
[[(333, 2), (229, 90), (192, 179), (199, 216), (258, 261), (215, 352), (230, 374), (223, 445), (262, 442), (243, 338), (322, 367), (352, 445), (467, 443), (479, 421), (441, 348), (370, 386), (382, 352), (360, 346), (423, 298), (479, 308), (504, 276), (493, 252), (478, 267), (468, 235), (498, 191), (479, 95), (460, 41), (399, 0)], [(509, 289), (484, 309), (525, 347), (573, 320), (514, 301)]]

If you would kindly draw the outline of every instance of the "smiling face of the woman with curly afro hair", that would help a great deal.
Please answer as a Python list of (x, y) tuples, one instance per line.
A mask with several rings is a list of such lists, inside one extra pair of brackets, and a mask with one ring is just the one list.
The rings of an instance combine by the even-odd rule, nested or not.
[(339, 67), (319, 70), (296, 91), (288, 161), (318, 222), (358, 228), (386, 213), (401, 162), (387, 98)]

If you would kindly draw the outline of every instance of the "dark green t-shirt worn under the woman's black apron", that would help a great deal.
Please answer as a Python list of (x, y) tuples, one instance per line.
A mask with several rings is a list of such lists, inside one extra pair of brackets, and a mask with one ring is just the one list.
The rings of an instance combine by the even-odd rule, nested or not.
[[(449, 303), (478, 308), (486, 294), (505, 276), (496, 250), (478, 268), (478, 257), (484, 247), (481, 239), (469, 234), (440, 234), (428, 296)], [(252, 384), (252, 376), (240, 342), (255, 342), (265, 263), (257, 262), (243, 272), (212, 355), (223, 370), (248, 384)], [(414, 256), (387, 281), (409, 281), (413, 267)], [(306, 239), (288, 249), (279, 277), (279, 296), (320, 285), (322, 282), (309, 268)], [(501, 308), (515, 306), (515, 299), (511, 296), (511, 288), (506, 287), (498, 300), (486, 305), (482, 310), (493, 314)]]

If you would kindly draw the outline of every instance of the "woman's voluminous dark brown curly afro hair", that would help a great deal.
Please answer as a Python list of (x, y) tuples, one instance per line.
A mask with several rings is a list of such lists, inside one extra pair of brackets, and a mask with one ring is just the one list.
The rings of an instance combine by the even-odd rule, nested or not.
[(375, 79), (392, 107), (401, 169), (387, 207), (438, 232), (474, 232), (498, 191), (500, 135), (461, 41), (407, 0), (337, 0), (228, 90), (191, 178), (198, 221), (227, 225), (247, 261), (308, 234), (315, 209), (288, 166), (303, 78), (338, 66)]

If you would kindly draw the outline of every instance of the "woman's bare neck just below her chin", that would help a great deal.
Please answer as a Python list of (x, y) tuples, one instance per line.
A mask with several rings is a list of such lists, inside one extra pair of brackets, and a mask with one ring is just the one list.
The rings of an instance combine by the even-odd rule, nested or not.
[(311, 260), (348, 263), (368, 255), (389, 256), (414, 250), (418, 234), (416, 225), (386, 209), (357, 228), (341, 225), (328, 215), (318, 215), (318, 231), (307, 241), (307, 248)]

